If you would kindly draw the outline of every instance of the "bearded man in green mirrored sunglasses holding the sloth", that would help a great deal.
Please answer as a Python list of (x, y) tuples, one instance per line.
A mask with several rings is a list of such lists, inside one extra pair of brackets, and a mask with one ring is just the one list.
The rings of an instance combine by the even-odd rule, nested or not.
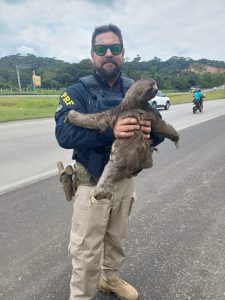
[[(124, 261), (128, 218), (134, 201), (133, 180), (114, 185), (111, 200), (90, 200), (90, 193), (109, 160), (115, 138), (127, 138), (142, 130), (150, 138), (151, 124), (134, 118), (118, 119), (113, 130), (98, 132), (65, 123), (69, 110), (95, 113), (118, 105), (133, 80), (122, 77), (123, 39), (115, 25), (100, 26), (92, 35), (94, 73), (67, 89), (56, 110), (56, 138), (63, 148), (74, 149), (80, 182), (75, 194), (69, 252), (72, 255), (70, 300), (90, 300), (97, 287), (120, 299), (136, 300), (134, 287), (118, 277)], [(151, 137), (152, 138), (152, 137)], [(155, 140), (157, 137), (155, 137)], [(156, 143), (162, 140), (158, 138)]]

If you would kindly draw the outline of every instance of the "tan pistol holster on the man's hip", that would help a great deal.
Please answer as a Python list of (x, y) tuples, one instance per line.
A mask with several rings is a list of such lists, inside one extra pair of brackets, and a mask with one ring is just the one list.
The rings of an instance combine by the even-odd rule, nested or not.
[(61, 161), (57, 162), (59, 170), (59, 180), (62, 183), (63, 191), (67, 201), (71, 201), (76, 193), (79, 185), (79, 180), (76, 176), (76, 171), (72, 165), (63, 166)]

